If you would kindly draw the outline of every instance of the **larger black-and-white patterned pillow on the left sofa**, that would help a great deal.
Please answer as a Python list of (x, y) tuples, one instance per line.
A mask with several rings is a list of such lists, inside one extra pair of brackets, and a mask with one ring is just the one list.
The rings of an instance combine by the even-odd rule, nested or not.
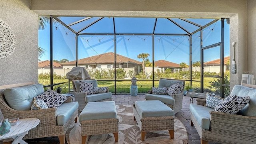
[(59, 107), (62, 103), (64, 103), (64, 101), (68, 99), (65, 95), (56, 93), (51, 89), (47, 90), (45, 93), (42, 93), (34, 98), (42, 99), (46, 103), (48, 108)]

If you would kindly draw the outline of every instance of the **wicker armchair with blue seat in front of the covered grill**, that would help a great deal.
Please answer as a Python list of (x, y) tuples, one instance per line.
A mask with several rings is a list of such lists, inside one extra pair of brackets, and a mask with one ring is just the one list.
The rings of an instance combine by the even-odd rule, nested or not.
[[(98, 83), (96, 79), (91, 80), (82, 80), (84, 82), (93, 83), (93, 87), (98, 87)], [(97, 93), (87, 95), (86, 93), (80, 93), (80, 83), (78, 80), (72, 81), (73, 91), (75, 101), (78, 102), (79, 107), (78, 110), (82, 111), (87, 103), (89, 102), (97, 102), (97, 101), (112, 101), (112, 93), (107, 89), (106, 93)]]

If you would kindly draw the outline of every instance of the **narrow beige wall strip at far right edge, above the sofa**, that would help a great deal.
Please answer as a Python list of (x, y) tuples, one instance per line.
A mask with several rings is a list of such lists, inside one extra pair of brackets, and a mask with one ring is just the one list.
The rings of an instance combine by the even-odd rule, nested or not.
[(247, 3), (247, 71), (256, 79), (256, 0)]

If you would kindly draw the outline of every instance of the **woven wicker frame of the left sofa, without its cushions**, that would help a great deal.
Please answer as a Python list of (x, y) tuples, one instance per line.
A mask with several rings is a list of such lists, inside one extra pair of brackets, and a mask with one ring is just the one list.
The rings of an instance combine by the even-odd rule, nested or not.
[[(34, 139), (34, 138), (44, 138), (49, 136), (58, 136), (60, 144), (65, 143), (66, 131), (70, 127), (70, 124), (75, 120), (77, 122), (78, 111), (76, 110), (72, 116), (68, 119), (66, 124), (58, 126), (57, 124), (57, 108), (47, 108), (40, 110), (14, 110), (9, 107), (6, 99), (4, 97), (4, 90), (12, 87), (22, 87), (27, 85), (32, 85), (34, 82), (20, 83), (14, 85), (3, 85), (0, 86), (0, 109), (2, 111), (2, 116), (4, 118), (38, 118), (40, 123), (36, 128), (31, 129), (23, 139)], [(72, 102), (72, 97), (64, 103)], [(1, 112), (0, 112), (1, 113)], [(1, 119), (1, 116), (0, 116)], [(12, 138), (5, 139), (4, 142), (13, 141)]]

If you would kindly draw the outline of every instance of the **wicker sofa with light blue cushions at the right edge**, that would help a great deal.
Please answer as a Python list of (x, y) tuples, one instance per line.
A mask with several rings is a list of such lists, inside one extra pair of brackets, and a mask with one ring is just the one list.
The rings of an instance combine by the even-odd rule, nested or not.
[(256, 141), (256, 85), (235, 85), (231, 95), (250, 96), (240, 114), (213, 111), (204, 106), (205, 99), (190, 104), (191, 126), (195, 126), (201, 144), (221, 142), (228, 144), (255, 144)]

